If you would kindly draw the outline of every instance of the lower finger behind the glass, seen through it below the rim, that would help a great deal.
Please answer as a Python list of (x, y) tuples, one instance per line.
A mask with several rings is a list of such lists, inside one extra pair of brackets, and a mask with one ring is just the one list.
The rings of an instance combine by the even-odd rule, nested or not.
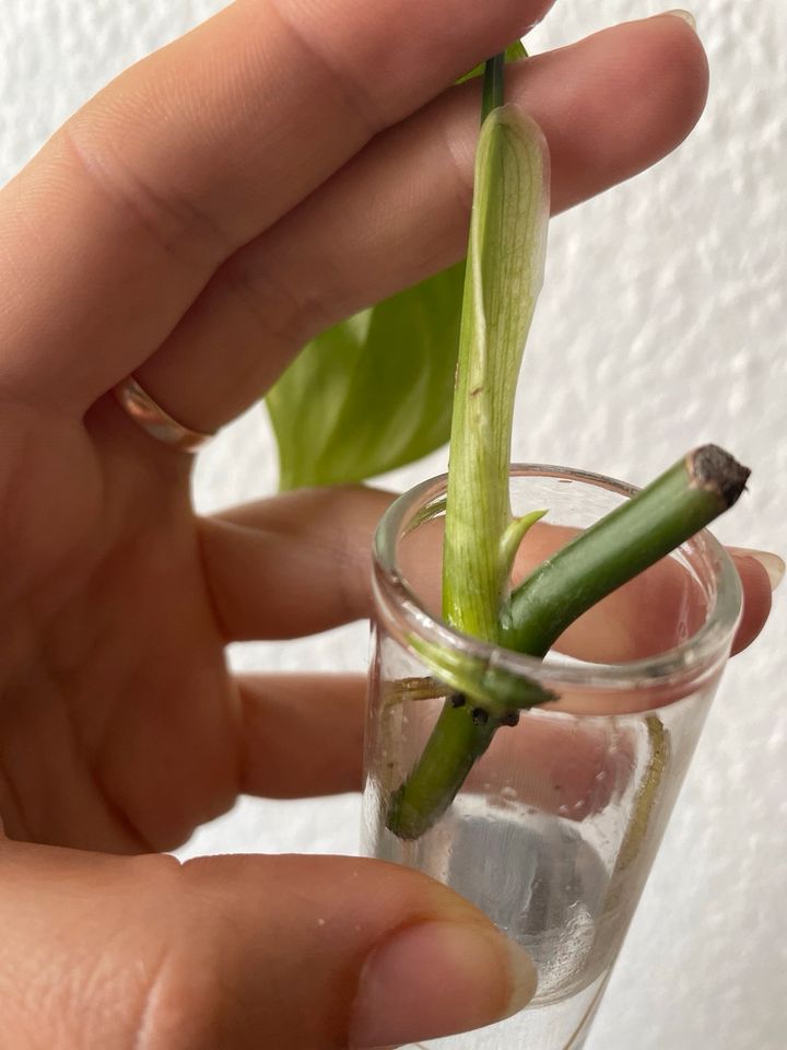
[[(301, 798), (360, 791), (365, 676), (244, 675), (237, 682), (242, 792)], [(421, 723), (425, 742), (443, 701), (414, 702), (408, 723)], [(583, 820), (625, 789), (632, 762), (631, 742), (618, 725), (580, 726), (524, 713), (514, 732), (496, 734), (467, 789), (500, 793), (515, 766), (519, 803)]]

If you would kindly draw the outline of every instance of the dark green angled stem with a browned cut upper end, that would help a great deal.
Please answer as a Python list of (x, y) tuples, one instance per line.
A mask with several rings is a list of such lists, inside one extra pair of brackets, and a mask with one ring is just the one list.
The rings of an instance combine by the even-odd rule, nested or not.
[[(514, 592), (508, 646), (543, 656), (590, 606), (732, 506), (748, 478), (747, 468), (715, 445), (690, 453), (553, 555)], [(484, 702), (483, 693), (480, 681), (473, 707), (457, 707), (457, 698), (444, 707), (423, 755), (391, 800), (387, 826), (399, 838), (416, 839), (428, 831), (496, 731), (516, 724), (513, 696), (505, 711), (500, 702)], [(522, 697), (522, 707), (539, 702), (526, 687)]]

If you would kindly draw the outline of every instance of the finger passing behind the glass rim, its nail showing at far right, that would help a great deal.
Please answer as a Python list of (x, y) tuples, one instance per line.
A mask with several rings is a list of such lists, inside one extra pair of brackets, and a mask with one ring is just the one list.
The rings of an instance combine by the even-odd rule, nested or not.
[[(372, 612), (372, 545), (395, 497), (360, 486), (312, 489), (247, 504), (201, 523), (213, 606), (227, 641), (313, 634)], [(515, 583), (576, 535), (541, 524), (530, 530)], [(442, 526), (420, 528), (400, 549), (404, 578), (424, 607), (441, 616)], [(780, 559), (730, 550), (743, 585), (740, 652), (771, 611)], [(763, 558), (774, 560), (768, 574)], [(668, 610), (680, 614), (666, 615)], [(580, 660), (625, 663), (666, 652), (701, 626), (704, 599), (674, 559), (662, 559), (580, 617), (557, 649)]]

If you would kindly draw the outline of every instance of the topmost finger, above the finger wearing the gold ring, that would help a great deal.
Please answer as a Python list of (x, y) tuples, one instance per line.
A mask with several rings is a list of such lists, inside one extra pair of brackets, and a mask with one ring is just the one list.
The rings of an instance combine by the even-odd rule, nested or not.
[(0, 385), (86, 408), (233, 252), (548, 7), (237, 0), (133, 67), (0, 198)]

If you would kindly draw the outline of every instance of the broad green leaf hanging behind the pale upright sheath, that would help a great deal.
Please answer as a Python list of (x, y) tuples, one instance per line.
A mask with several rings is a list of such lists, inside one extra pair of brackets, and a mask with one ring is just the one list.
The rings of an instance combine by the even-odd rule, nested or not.
[(446, 444), (463, 288), (462, 261), (306, 346), (267, 397), (280, 488), (363, 481)]

